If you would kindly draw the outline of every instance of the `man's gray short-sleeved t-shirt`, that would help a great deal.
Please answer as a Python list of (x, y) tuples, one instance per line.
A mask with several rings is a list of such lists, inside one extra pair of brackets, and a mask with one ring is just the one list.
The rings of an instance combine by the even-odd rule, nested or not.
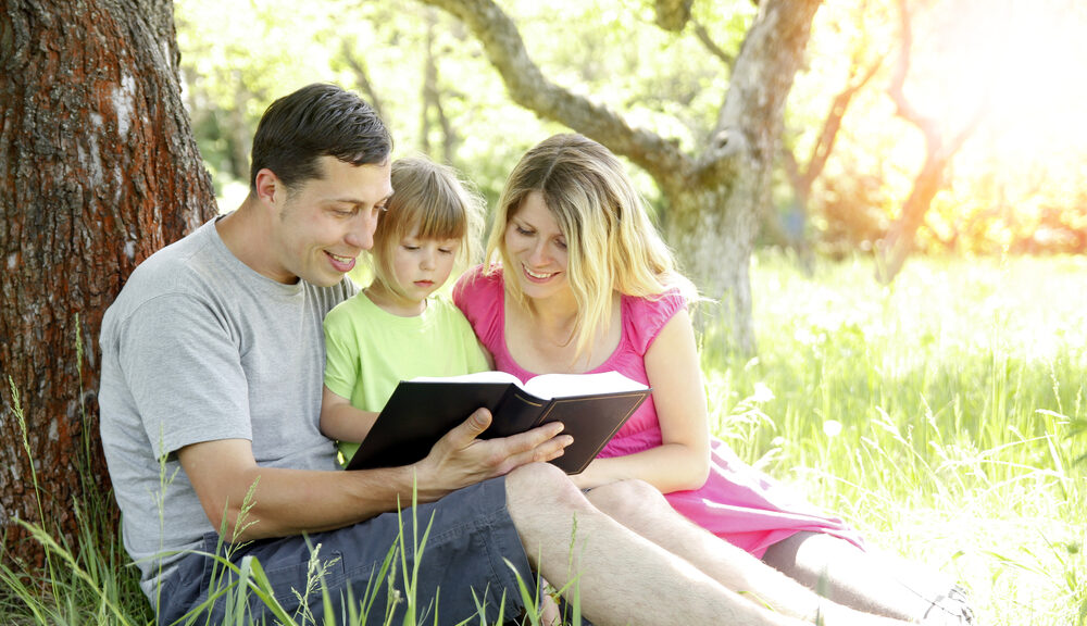
[[(216, 530), (180, 472), (190, 443), (249, 439), (260, 465), (335, 470), (320, 431), (321, 323), (355, 292), (284, 285), (239, 261), (211, 221), (141, 263), (102, 321), (101, 435), (125, 548), (150, 597)], [(164, 463), (160, 460), (164, 459)]]

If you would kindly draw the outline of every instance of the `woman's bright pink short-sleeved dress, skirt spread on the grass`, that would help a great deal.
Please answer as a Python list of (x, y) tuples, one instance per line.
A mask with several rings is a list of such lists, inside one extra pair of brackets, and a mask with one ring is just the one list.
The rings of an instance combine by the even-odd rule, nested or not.
[[(522, 380), (536, 374), (522, 368), (505, 346), (505, 306), (501, 273), (482, 267), (457, 284), (453, 300), (472, 323), (476, 336), (495, 356), (495, 367)], [(619, 348), (592, 372), (616, 371), (645, 384), (645, 355), (661, 328), (686, 300), (677, 292), (659, 300), (622, 298), (623, 334)], [(652, 396), (630, 416), (599, 458), (622, 456), (661, 445), (661, 425)], [(762, 556), (770, 546), (799, 533), (827, 533), (863, 547), (841, 519), (792, 496), (783, 485), (740, 461), (720, 439), (710, 445), (710, 477), (700, 489), (674, 491), (665, 498), (676, 511), (717, 537)]]

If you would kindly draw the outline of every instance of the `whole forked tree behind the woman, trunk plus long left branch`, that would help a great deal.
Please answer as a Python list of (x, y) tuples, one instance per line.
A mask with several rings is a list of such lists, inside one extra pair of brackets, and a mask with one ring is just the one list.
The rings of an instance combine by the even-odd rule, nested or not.
[[(424, 0), (450, 12), (473, 32), (514, 102), (560, 122), (644, 168), (667, 201), (664, 231), (686, 272), (728, 329), (725, 347), (755, 350), (748, 274), (758, 208), (769, 202), (780, 120), (800, 67), (820, 0), (766, 0), (732, 67), (732, 84), (716, 130), (698, 154), (650, 130), (633, 128), (615, 112), (570, 92), (542, 75), (529, 59), (514, 23), (491, 0)], [(679, 32), (690, 2), (661, 0), (658, 22)]]

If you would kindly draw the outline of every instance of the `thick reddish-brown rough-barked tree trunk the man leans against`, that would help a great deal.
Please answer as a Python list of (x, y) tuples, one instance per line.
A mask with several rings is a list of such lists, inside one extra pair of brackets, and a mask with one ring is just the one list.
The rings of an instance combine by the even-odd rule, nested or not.
[(168, 0), (0, 4), (5, 558), (41, 563), (17, 521), (78, 539), (73, 501), (108, 483), (102, 313), (137, 263), (214, 214), (177, 67)]

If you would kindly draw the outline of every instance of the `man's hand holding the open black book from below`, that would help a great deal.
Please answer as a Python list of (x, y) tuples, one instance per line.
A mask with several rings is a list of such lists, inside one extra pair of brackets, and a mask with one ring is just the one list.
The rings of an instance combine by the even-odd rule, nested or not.
[(490, 426), (491, 415), (479, 409), (446, 434), (430, 453), (415, 464), (418, 492), (454, 491), (496, 476), (504, 476), (526, 463), (545, 463), (562, 455), (574, 442), (559, 435), (562, 424), (553, 422), (532, 430), (496, 439), (479, 439)]

